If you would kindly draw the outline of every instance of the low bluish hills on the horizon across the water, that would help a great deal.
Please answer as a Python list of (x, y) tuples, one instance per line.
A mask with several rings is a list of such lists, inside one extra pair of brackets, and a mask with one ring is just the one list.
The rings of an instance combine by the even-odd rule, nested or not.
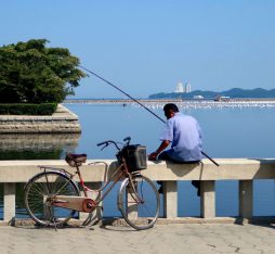
[(256, 88), (251, 90), (233, 88), (227, 91), (214, 92), (214, 91), (201, 91), (195, 90), (192, 92), (159, 92), (150, 94), (149, 99), (193, 99), (194, 96), (201, 96), (205, 99), (213, 99), (218, 96), (230, 97), (230, 98), (275, 98), (275, 89), (265, 90), (262, 88)]

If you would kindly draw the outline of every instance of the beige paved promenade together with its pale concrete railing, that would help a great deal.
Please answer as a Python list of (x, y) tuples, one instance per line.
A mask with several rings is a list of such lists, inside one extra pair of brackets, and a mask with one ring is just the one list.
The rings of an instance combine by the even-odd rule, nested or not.
[[(148, 162), (142, 174), (163, 181), (165, 216), (149, 230), (135, 231), (119, 219), (102, 221), (100, 213), (83, 226), (87, 214), (65, 228), (36, 227), (16, 217), (16, 183), (26, 182), (39, 165), (71, 170), (64, 161), (1, 161), (0, 182), (4, 186), (3, 220), (0, 223), (1, 253), (274, 253), (274, 217), (253, 216), (253, 180), (275, 178), (275, 158), (214, 158), (220, 167), (204, 160), (201, 164)], [(82, 174), (95, 188), (112, 174), (115, 161), (107, 165), (82, 166)], [(109, 174), (106, 174), (108, 169)], [(239, 182), (239, 215), (215, 217), (215, 181)], [(200, 180), (201, 216), (179, 217), (179, 180)], [(223, 202), (226, 202), (224, 200)]]

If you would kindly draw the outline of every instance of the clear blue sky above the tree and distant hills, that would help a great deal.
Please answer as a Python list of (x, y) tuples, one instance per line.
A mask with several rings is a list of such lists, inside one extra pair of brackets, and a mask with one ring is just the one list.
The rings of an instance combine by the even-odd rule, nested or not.
[[(48, 39), (135, 98), (275, 88), (273, 0), (0, 0), (0, 47)], [(100, 79), (74, 98), (122, 98)]]

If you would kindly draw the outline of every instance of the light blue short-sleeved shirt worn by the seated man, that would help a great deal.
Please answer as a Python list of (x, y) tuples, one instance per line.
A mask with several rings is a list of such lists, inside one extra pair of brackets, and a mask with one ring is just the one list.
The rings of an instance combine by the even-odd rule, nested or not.
[(167, 120), (160, 140), (171, 141), (167, 152), (170, 157), (180, 162), (200, 161), (202, 135), (198, 122), (180, 112)]

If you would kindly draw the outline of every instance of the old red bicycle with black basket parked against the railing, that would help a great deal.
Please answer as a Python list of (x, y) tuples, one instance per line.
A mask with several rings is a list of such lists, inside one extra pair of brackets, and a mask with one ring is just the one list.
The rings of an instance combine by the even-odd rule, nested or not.
[[(63, 168), (41, 167), (43, 172), (31, 177), (24, 188), (29, 216), (39, 225), (54, 226), (56, 229), (57, 226), (66, 225), (77, 212), (93, 213), (96, 208), (103, 208), (102, 201), (116, 183), (121, 182), (117, 206), (125, 220), (136, 230), (152, 228), (159, 214), (159, 193), (155, 183), (141, 174), (141, 170), (146, 168), (146, 148), (130, 144), (130, 137), (125, 138), (123, 144), (114, 140), (97, 143), (102, 150), (109, 144), (114, 144), (118, 150), (118, 166), (97, 190), (88, 188), (81, 176), (80, 166), (86, 163), (87, 154), (66, 155), (66, 162), (76, 168), (74, 174)], [(76, 176), (83, 196), (74, 180)], [(88, 195), (90, 192), (99, 194), (91, 199)]]

